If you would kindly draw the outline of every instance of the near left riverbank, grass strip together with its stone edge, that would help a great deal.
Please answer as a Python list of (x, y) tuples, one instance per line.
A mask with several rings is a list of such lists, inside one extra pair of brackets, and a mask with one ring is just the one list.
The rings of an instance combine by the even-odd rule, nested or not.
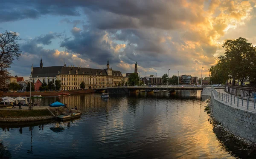
[(1, 110), (0, 122), (30, 122), (54, 119), (47, 109), (39, 110)]

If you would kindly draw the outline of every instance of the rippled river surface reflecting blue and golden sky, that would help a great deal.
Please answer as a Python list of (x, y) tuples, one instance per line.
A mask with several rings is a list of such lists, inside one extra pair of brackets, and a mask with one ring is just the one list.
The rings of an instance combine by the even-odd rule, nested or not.
[(200, 91), (35, 99), (77, 106), (81, 118), (2, 125), (0, 158), (234, 158), (219, 142)]

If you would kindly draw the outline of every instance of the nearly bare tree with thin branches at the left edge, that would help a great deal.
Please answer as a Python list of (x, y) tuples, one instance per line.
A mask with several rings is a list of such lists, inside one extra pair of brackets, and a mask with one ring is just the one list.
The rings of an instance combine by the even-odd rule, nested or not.
[(15, 32), (0, 33), (0, 90), (6, 87), (6, 79), (9, 77), (7, 68), (13, 63), (14, 58), (19, 59), (21, 55), (18, 40), (20, 38)]

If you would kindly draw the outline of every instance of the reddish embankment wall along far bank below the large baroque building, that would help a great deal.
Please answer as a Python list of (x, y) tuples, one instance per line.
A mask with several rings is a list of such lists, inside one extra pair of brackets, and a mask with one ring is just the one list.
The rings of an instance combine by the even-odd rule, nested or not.
[[(86, 93), (94, 93), (93, 89), (88, 90), (74, 90), (74, 91), (38, 91), (38, 92), (31, 92), (31, 95), (38, 95), (40, 94), (43, 97), (51, 97), (51, 96), (58, 96), (61, 93), (69, 93), (69, 94), (86, 94)], [(29, 97), (30, 92), (3, 92), (1, 95), (2, 97)]]

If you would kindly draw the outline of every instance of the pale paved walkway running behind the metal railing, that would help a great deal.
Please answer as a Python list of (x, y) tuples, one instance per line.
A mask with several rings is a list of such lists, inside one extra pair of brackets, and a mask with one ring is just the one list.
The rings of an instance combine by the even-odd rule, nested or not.
[[(227, 97), (228, 94), (227, 92), (224, 91), (224, 89), (216, 89), (216, 91), (220, 92), (220, 93), (223, 93), (223, 94), (227, 94)], [(243, 100), (243, 106), (241, 105), (241, 102), (242, 102), (242, 99), (239, 98), (239, 106), (237, 106), (237, 98), (235, 98), (235, 104), (234, 104), (234, 98), (232, 98), (232, 105), (230, 104), (230, 98), (229, 100), (227, 100), (226, 102), (226, 99), (223, 98), (223, 101), (222, 101), (222, 98), (218, 99), (215, 94), (213, 94), (215, 100), (218, 100), (226, 105), (229, 105), (230, 107), (233, 107), (233, 108), (237, 108), (237, 109), (241, 109), (241, 110), (244, 110), (244, 111), (248, 111), (248, 112), (252, 112), (252, 113), (256, 113), (256, 109), (254, 109), (254, 102), (253, 101), (249, 101), (249, 109), (247, 109), (247, 100)], [(225, 95), (224, 95), (225, 96)], [(231, 96), (231, 95), (230, 95)], [(226, 97), (225, 97), (226, 98)], [(229, 102), (228, 102), (229, 101)]]

